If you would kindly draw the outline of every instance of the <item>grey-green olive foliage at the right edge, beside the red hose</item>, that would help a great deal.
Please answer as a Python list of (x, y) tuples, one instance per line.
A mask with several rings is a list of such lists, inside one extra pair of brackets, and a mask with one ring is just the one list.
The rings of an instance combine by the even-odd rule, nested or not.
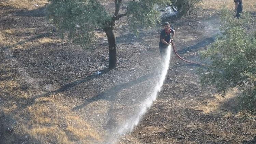
[[(254, 18), (243, 13), (240, 19), (227, 9), (221, 11), (222, 36), (202, 52), (203, 59), (212, 61), (205, 72), (203, 85), (214, 85), (220, 93), (234, 87), (242, 92), (241, 104), (248, 109), (256, 106), (256, 33), (252, 33)], [(255, 32), (255, 31), (254, 31)]]

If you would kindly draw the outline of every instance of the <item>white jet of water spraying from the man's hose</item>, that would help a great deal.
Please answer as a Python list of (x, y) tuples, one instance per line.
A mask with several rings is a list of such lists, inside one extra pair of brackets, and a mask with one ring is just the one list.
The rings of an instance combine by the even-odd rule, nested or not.
[[(163, 56), (163, 62), (159, 68), (158, 75), (156, 76), (157, 82), (155, 86), (152, 88), (152, 92), (148, 97), (142, 101), (142, 103), (139, 106), (139, 109), (134, 113), (134, 115), (126, 121), (125, 124), (123, 124), (117, 134), (118, 135), (124, 135), (128, 132), (132, 132), (134, 127), (138, 125), (143, 115), (147, 112), (147, 110), (151, 107), (153, 102), (157, 98), (158, 92), (160, 92), (161, 87), (165, 81), (166, 74), (168, 72), (169, 68), (169, 61), (170, 61), (170, 55), (171, 55), (171, 46), (168, 46), (166, 54)], [(108, 143), (115, 143), (115, 140), (110, 140)]]

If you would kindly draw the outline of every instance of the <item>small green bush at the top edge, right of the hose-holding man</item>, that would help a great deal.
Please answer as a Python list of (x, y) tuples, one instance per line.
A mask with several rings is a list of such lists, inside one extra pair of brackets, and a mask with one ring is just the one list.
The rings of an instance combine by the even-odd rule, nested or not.
[(200, 0), (170, 0), (171, 7), (174, 11), (177, 11), (180, 16), (188, 13), (189, 10), (195, 7), (195, 4)]

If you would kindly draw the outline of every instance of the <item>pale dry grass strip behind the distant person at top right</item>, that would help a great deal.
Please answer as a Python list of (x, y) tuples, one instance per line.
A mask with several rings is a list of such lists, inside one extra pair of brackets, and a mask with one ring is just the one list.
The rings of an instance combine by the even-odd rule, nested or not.
[[(234, 10), (233, 0), (203, 0), (198, 4), (203, 9), (220, 9), (226, 6), (230, 10)], [(244, 11), (256, 11), (256, 0), (243, 0)]]

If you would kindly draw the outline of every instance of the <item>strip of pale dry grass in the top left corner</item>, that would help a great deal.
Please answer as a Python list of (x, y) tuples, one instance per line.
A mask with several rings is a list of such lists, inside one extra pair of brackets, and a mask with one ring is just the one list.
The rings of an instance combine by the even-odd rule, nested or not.
[(0, 2), (0, 6), (32, 10), (43, 7), (46, 3), (48, 0), (3, 0)]

